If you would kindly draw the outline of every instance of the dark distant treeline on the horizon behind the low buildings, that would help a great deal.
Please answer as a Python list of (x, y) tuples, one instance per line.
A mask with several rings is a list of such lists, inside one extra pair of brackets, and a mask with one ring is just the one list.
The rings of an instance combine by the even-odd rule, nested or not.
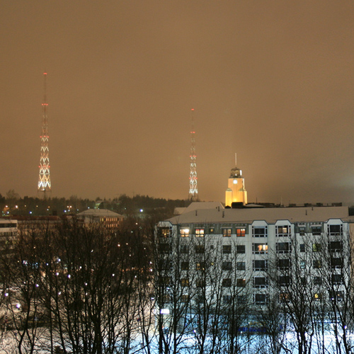
[[(100, 209), (113, 210), (122, 215), (154, 215), (161, 213), (162, 216), (173, 215), (175, 207), (186, 207), (188, 200), (166, 200), (164, 198), (152, 198), (148, 195), (135, 195), (128, 197), (125, 194), (118, 198), (96, 200), (81, 199), (76, 195), (70, 198), (52, 198), (50, 195), (46, 199), (28, 197), (21, 198), (15, 190), (8, 190), (5, 196), (0, 194), (0, 210), (2, 216), (16, 215), (67, 215), (77, 214), (87, 209), (98, 207)], [(141, 211), (142, 210), (142, 211)]]

